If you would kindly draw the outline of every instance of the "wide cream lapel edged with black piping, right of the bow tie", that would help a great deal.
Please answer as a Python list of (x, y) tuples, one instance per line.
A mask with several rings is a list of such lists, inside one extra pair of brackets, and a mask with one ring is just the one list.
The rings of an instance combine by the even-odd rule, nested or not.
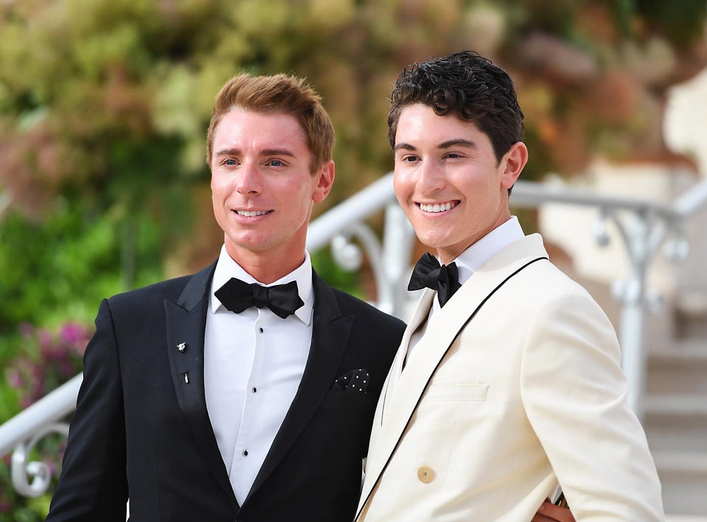
[(540, 259), (547, 259), (547, 253), (539, 234), (516, 241), (475, 272), (433, 317), (424, 337), (415, 347), (415, 357), (402, 371), (395, 393), (387, 398), (388, 412), (383, 418), (378, 443), (373, 453), (368, 455), (366, 472), (375, 479), (366, 480), (363, 486), (358, 514), (402, 439), (434, 372), (461, 330), (496, 289), (525, 265)]

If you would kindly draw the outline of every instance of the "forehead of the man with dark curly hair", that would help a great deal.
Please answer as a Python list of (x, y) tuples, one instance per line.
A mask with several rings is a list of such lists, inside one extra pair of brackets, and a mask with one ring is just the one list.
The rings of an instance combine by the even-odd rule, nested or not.
[(489, 141), (486, 133), (481, 132), (474, 122), (464, 122), (453, 114), (437, 115), (427, 105), (416, 103), (407, 105), (400, 111), (395, 132), (396, 144), (414, 145), (416, 142), (440, 144), (453, 139)]

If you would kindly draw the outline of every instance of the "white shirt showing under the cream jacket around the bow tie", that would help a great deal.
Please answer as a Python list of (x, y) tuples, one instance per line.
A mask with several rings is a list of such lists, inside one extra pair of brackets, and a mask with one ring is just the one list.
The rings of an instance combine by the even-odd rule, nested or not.
[[(508, 221), (498, 225), (491, 232), (487, 233), (486, 236), (469, 246), (467, 250), (464, 250), (464, 252), (458, 255), (454, 260), (455, 265), (457, 265), (457, 271), (459, 272), (459, 284), (464, 284), (467, 282), (469, 277), (472, 277), (472, 274), (481, 268), (486, 261), (501, 252), (501, 250), (510, 245), (510, 243), (515, 243), (515, 241), (524, 237), (525, 233), (523, 233), (523, 229), (518, 222), (518, 218), (515, 216), (511, 216)], [(430, 308), (430, 315), (427, 316), (427, 320), (410, 337), (406, 362), (410, 360), (416, 344), (422, 339), (423, 335), (425, 335), (427, 325), (430, 324), (435, 313), (439, 311), (440, 301), (435, 296), (432, 301), (432, 308)]]

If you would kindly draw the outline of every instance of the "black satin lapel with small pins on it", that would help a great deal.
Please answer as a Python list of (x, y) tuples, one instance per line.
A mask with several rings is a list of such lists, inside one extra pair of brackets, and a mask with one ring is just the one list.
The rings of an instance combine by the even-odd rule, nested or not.
[[(206, 412), (204, 395), (204, 330), (209, 306), (209, 286), (215, 267), (216, 263), (194, 274), (177, 303), (165, 300), (167, 353), (177, 401), (192, 432), (194, 443), (218, 485), (236, 502)], [(178, 349), (181, 343), (185, 343), (183, 352)]]

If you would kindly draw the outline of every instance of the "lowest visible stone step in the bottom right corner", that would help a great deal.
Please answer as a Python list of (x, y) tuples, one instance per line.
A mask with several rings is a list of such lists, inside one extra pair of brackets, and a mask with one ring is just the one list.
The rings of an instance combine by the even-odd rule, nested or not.
[(654, 451), (666, 513), (707, 516), (707, 452)]

